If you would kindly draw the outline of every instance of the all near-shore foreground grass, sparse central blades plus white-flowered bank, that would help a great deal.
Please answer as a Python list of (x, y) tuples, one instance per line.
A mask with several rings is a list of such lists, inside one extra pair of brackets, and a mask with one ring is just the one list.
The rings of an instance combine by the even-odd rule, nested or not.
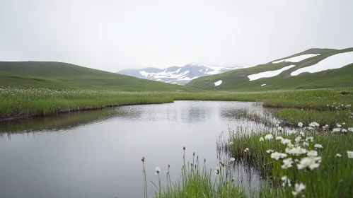
[[(352, 125), (345, 124), (341, 129)], [(242, 128), (230, 130), (230, 139), (217, 145), (226, 153), (226, 158), (215, 168), (214, 180), (213, 171), (207, 170), (205, 163), (199, 167), (195, 153), (192, 163), (185, 163), (184, 151), (180, 179), (172, 181), (168, 168), (164, 189), (160, 169), (156, 169), (159, 183), (154, 184), (155, 197), (352, 197), (353, 156), (348, 152), (352, 151), (353, 155), (353, 128), (350, 130), (338, 133), (320, 127), (287, 130), (275, 127), (259, 132)], [(300, 148), (301, 152), (295, 148)], [(276, 158), (278, 155), (284, 156)], [(261, 178), (260, 188), (250, 187), (258, 190), (245, 194), (243, 186), (234, 182), (231, 175), (233, 163), (255, 169)], [(144, 170), (143, 173), (145, 186)]]

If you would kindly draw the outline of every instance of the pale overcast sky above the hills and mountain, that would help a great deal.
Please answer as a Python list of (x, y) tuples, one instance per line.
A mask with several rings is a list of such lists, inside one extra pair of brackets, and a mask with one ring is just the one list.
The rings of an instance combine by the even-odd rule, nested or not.
[(1, 0), (0, 61), (105, 71), (253, 65), (353, 47), (353, 1)]

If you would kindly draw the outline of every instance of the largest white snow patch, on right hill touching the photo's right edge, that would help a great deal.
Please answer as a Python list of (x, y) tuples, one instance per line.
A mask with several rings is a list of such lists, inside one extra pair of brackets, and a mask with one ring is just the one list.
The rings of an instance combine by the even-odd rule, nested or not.
[(303, 72), (316, 73), (328, 69), (340, 69), (343, 66), (353, 63), (353, 52), (345, 52), (335, 54), (323, 59), (317, 64), (306, 66), (296, 71), (291, 72), (291, 76), (297, 76)]

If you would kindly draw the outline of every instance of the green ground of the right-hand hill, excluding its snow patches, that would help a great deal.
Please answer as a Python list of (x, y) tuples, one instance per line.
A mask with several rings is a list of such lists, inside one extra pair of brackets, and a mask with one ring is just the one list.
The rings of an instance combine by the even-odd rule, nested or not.
[[(280, 62), (274, 64), (272, 62), (267, 64), (260, 64), (254, 67), (245, 69), (236, 69), (228, 71), (223, 74), (216, 74), (213, 76), (204, 76), (197, 78), (186, 86), (190, 88), (202, 88), (207, 90), (223, 90), (223, 91), (269, 91), (275, 89), (296, 89), (296, 88), (332, 88), (332, 87), (352, 87), (353, 86), (353, 64), (349, 64), (340, 69), (329, 69), (317, 73), (302, 73), (298, 76), (291, 76), (291, 72), (296, 71), (302, 67), (311, 66), (330, 57), (334, 54), (342, 52), (352, 52), (352, 48), (344, 50), (333, 49), (311, 49), (294, 54), (289, 57), (296, 57), (301, 54), (320, 54), (316, 57), (304, 59), (301, 62)], [(281, 60), (281, 59), (277, 59)], [(275, 60), (274, 60), (275, 61)], [(282, 71), (281, 74), (270, 77), (260, 78), (255, 81), (249, 81), (248, 76), (251, 74), (258, 74), (264, 71), (274, 71), (282, 69), (284, 66), (295, 64), (296, 66)], [(214, 86), (214, 82), (221, 80), (219, 86)], [(266, 86), (261, 86), (266, 84)]]

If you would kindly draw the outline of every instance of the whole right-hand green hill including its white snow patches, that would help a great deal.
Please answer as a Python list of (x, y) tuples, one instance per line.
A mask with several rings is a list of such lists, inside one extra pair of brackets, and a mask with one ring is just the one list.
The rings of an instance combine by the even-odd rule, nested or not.
[(310, 49), (266, 64), (204, 76), (190, 88), (223, 91), (353, 86), (353, 47), (344, 50)]

